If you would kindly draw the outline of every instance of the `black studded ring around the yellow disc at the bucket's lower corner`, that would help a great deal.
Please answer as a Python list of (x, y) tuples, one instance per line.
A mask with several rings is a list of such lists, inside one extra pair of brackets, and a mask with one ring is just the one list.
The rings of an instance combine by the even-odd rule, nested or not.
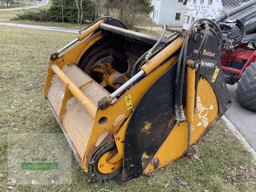
[(89, 170), (92, 175), (92, 178), (96, 180), (108, 180), (112, 177), (115, 177), (119, 172), (122, 170), (122, 164), (120, 167), (118, 167), (116, 170), (113, 172), (104, 174), (101, 173), (98, 169), (98, 163), (101, 158), (105, 153), (107, 153), (110, 150), (113, 150), (116, 148), (115, 141), (110, 141), (109, 143), (103, 145), (92, 157), (91, 162), (89, 163)]

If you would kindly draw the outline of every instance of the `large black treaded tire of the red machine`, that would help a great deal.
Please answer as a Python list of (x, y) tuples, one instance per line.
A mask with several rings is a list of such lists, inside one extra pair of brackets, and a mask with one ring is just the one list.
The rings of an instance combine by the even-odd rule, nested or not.
[(256, 111), (256, 63), (245, 68), (237, 82), (236, 102)]

